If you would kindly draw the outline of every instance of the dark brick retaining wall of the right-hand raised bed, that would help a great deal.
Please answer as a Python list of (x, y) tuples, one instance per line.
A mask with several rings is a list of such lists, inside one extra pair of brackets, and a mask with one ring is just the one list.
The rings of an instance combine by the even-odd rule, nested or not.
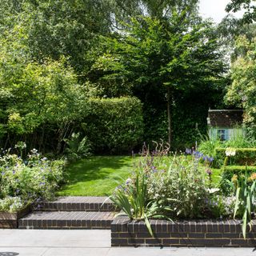
[(240, 221), (200, 220), (167, 222), (151, 220), (154, 238), (144, 222), (115, 218), (111, 224), (112, 246), (256, 246), (256, 222), (248, 228), (247, 238), (242, 237)]

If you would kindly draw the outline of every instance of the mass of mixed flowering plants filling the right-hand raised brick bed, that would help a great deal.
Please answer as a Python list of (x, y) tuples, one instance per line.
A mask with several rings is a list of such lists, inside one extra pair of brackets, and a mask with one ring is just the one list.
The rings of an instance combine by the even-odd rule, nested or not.
[[(142, 151), (141, 161), (125, 184), (111, 197), (130, 219), (148, 218), (242, 218), (242, 233), (256, 212), (256, 173), (234, 175), (226, 182), (231, 190), (214, 187), (211, 169), (214, 158), (186, 149)], [(227, 154), (233, 155), (233, 150)], [(246, 172), (247, 173), (247, 172)], [(233, 188), (233, 190), (232, 190)], [(150, 232), (152, 234), (152, 230)]]

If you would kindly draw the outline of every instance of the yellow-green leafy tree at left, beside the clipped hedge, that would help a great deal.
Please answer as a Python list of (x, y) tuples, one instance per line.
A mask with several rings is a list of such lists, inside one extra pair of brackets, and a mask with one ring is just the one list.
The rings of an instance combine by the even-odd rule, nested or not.
[[(2, 147), (24, 141), (31, 134), (34, 136), (30, 136), (30, 144), (44, 147), (46, 133), (55, 129), (59, 153), (70, 126), (86, 110), (83, 86), (78, 84), (77, 75), (65, 58), (42, 63), (31, 61), (27, 46), (16, 40), (23, 37), (22, 30), (15, 30), (16, 34), (0, 40)], [(38, 130), (40, 135), (36, 136)]]

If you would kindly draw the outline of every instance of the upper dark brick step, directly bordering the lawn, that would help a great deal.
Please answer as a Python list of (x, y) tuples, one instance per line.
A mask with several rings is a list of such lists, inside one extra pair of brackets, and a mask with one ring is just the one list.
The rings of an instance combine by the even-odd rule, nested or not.
[(43, 202), (42, 211), (114, 211), (113, 202), (106, 197), (59, 197)]

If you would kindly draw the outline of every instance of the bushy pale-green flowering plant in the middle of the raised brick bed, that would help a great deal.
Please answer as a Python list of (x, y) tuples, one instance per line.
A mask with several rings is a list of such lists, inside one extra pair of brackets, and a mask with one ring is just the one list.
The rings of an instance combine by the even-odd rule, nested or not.
[[(202, 166), (200, 161), (206, 162)], [(198, 218), (206, 212), (206, 198), (210, 194), (210, 162), (199, 152), (192, 158), (174, 155), (166, 169), (153, 168), (148, 178), (148, 193), (157, 202), (169, 205), (174, 218)]]

